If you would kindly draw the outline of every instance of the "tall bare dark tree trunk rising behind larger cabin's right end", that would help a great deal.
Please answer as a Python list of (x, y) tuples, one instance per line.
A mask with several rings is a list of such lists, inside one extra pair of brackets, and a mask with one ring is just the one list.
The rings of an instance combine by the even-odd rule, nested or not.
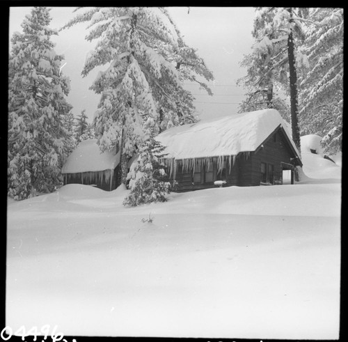
[[(292, 19), (292, 8), (290, 12), (290, 24), (294, 22)], [(301, 153), (301, 141), (299, 130), (299, 100), (297, 93), (297, 72), (296, 72), (296, 57), (294, 54), (294, 36), (290, 29), (289, 37), (287, 38), (287, 55), (289, 57), (289, 81), (290, 81), (290, 111), (291, 111), (291, 128), (292, 140), (294, 141), (299, 153)]]

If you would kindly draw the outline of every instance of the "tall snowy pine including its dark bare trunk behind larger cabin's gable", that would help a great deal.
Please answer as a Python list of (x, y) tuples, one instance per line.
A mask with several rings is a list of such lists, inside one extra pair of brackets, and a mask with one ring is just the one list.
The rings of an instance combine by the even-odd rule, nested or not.
[(282, 86), (283, 91), (290, 95), (292, 139), (299, 150), (299, 109), (294, 74), (299, 68), (308, 66), (299, 45), (304, 38), (301, 19), (307, 12), (304, 8), (256, 8), (253, 30), (255, 56), (244, 59), (244, 64), (248, 65), (246, 81), (255, 89), (252, 95), (266, 94), (267, 107), (269, 104), (274, 107), (272, 89), (275, 85)]

